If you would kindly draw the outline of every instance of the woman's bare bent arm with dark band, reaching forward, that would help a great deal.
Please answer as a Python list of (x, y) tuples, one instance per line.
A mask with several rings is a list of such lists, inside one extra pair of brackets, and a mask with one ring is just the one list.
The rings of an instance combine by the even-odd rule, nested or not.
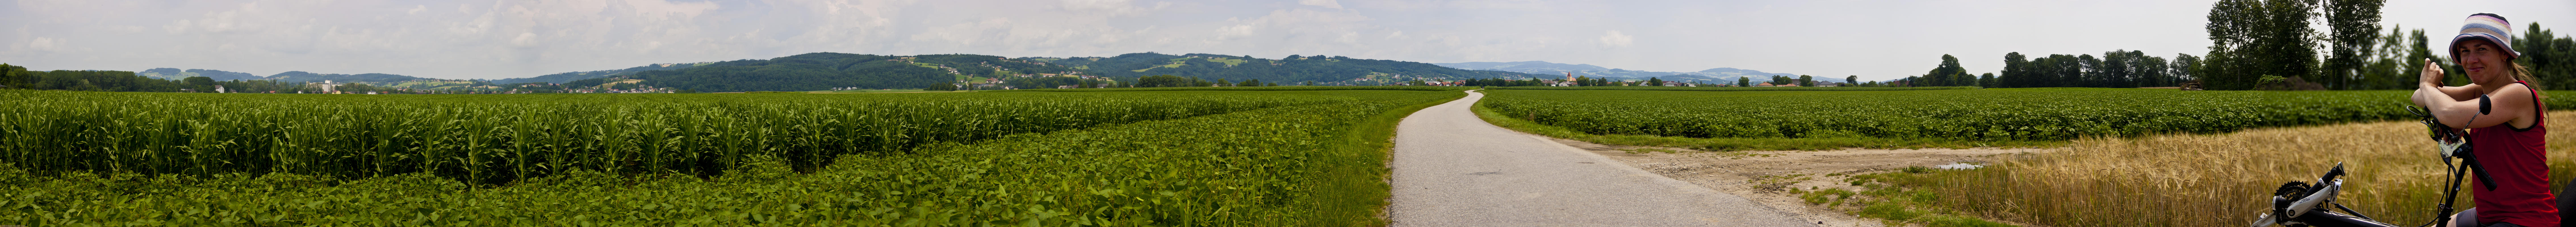
[(2478, 98), (2476, 95), (2470, 95), (2468, 101), (2427, 101), (2427, 95), (2434, 95), (2434, 90), (2416, 90), (2416, 103), (2421, 103), (2424, 108), (2432, 108), (2432, 119), (2442, 121), (2442, 126), (2481, 129), (2481, 126), (2509, 124), (2514, 119), (2530, 116), (2532, 108), (2537, 108), (2537, 106), (2532, 106), (2532, 95), (2530, 93), (2532, 93), (2532, 88), (2527, 88), (2522, 83), (2512, 83), (2512, 85), (2496, 88), (2496, 93), (2486, 93), (2486, 98), (2488, 98), (2486, 101), (2486, 106), (2488, 106), (2486, 114), (2478, 114)]

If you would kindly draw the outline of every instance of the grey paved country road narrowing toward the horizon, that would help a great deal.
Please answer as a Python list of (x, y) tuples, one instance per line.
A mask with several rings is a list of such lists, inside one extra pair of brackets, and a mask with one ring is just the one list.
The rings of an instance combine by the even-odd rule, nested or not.
[(1394, 227), (1814, 227), (1814, 222), (1476, 119), (1484, 93), (1396, 126)]

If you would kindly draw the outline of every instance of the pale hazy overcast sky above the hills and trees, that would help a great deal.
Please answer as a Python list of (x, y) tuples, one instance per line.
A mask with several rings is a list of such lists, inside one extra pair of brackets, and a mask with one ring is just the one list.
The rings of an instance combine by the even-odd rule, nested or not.
[[(2213, 0), (0, 0), (28, 70), (536, 77), (806, 52), (1334, 54), (1819, 77), (1922, 75), (1940, 54), (2205, 54)], [(2468, 13), (2576, 34), (2576, 0), (2391, 0), (2447, 39)], [(2519, 31), (2517, 31), (2519, 34)], [(2439, 44), (2439, 41), (2437, 41)]]

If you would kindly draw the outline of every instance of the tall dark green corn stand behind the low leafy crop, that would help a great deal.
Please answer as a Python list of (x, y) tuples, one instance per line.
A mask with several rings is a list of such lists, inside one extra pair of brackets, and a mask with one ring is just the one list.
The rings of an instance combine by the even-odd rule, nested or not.
[(265, 95), (5, 90), (0, 163), (36, 173), (433, 173), (505, 183), (564, 170), (806, 170), (938, 142), (1334, 103), (1257, 93), (672, 93)]

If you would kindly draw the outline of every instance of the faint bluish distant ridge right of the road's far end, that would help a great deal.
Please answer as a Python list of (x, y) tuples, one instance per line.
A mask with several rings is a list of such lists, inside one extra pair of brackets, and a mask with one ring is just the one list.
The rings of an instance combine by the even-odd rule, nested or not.
[(1566, 75), (1566, 72), (1574, 72), (1574, 75), (1584, 75), (1584, 77), (1623, 77), (1623, 80), (1646, 80), (1646, 77), (1659, 77), (1659, 80), (1736, 80), (1736, 77), (1770, 80), (1770, 75), (1798, 77), (1798, 75), (1790, 75), (1790, 72), (1762, 72), (1762, 70), (1736, 70), (1736, 67), (1716, 67), (1716, 70), (1700, 70), (1700, 72), (1646, 72), (1646, 70), (1613, 70), (1613, 67), (1595, 67), (1595, 64), (1561, 64), (1561, 62), (1435, 62), (1435, 64), (1440, 64), (1440, 67), (1458, 67), (1458, 70), (1499, 70), (1499, 72), (1558, 75), (1558, 77)]

